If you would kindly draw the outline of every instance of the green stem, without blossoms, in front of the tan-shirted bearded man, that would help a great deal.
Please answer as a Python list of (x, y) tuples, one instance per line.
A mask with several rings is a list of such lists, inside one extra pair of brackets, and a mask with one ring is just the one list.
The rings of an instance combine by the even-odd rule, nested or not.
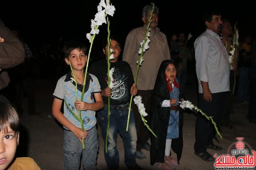
[[(139, 60), (138, 60), (138, 64), (137, 64), (137, 71), (136, 71), (136, 75), (135, 75), (135, 84), (134, 84), (134, 87), (136, 87), (136, 83), (137, 83), (137, 77), (138, 77), (138, 73), (139, 73), (139, 68), (140, 68), (140, 60), (142, 59), (143, 57), (143, 54), (144, 54), (144, 46), (145, 46), (145, 43), (147, 42), (147, 37), (148, 37), (148, 32), (149, 32), (149, 26), (151, 24), (151, 19), (152, 19), (152, 16), (153, 16), (153, 11), (154, 11), (154, 3), (152, 3), (152, 11), (150, 13), (150, 17), (148, 19), (148, 25), (147, 25), (147, 31), (146, 31), (146, 34), (144, 36), (144, 42), (142, 44), (142, 47), (141, 47), (141, 54), (140, 54), (140, 57), (139, 57)], [(129, 105), (129, 111), (128, 111), (128, 119), (127, 119), (127, 125), (126, 125), (126, 131), (128, 131), (128, 126), (129, 126), (129, 120), (130, 120), (130, 113), (131, 113), (131, 103), (132, 103), (132, 98), (133, 98), (133, 95), (131, 95), (131, 100), (130, 100), (130, 105)]]

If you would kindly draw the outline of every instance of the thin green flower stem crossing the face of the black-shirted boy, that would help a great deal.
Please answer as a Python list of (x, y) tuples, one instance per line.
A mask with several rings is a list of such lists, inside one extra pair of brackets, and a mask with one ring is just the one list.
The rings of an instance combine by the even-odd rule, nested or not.
[[(110, 29), (109, 29), (109, 26), (110, 26), (110, 21), (108, 20), (108, 17), (107, 17), (107, 23), (108, 23), (108, 88), (109, 88), (109, 85), (111, 83), (111, 78), (109, 77), (109, 69), (110, 69), (110, 62), (109, 62), (109, 58), (110, 58), (110, 50), (109, 50), (109, 47), (110, 47), (110, 40), (109, 40), (109, 37), (110, 37)], [(106, 134), (106, 139), (105, 139), (105, 152), (108, 153), (108, 131), (109, 131), (109, 123), (110, 123), (110, 97), (108, 97), (108, 127), (107, 127), (107, 134)]]

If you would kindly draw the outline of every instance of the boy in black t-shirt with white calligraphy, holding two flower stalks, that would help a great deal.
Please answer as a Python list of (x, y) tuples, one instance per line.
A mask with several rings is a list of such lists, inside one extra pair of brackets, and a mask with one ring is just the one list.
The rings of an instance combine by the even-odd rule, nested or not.
[[(130, 113), (129, 128), (126, 131), (128, 120), (129, 101), (131, 95), (137, 94), (137, 87), (134, 87), (134, 79), (131, 67), (128, 62), (118, 60), (121, 52), (121, 44), (116, 37), (110, 37), (110, 48), (113, 50), (114, 59), (111, 59), (111, 67), (113, 71), (113, 88), (108, 88), (108, 44), (103, 42), (103, 53), (105, 59), (94, 62), (89, 73), (94, 74), (99, 79), (99, 84), (102, 89), (102, 98), (104, 108), (98, 113), (98, 121), (102, 130), (104, 142), (106, 140), (108, 126), (108, 96), (110, 96), (110, 127), (108, 131), (108, 153), (104, 152), (105, 161), (108, 164), (108, 169), (118, 169), (119, 153), (116, 148), (117, 132), (122, 136), (125, 148), (125, 164), (128, 168), (141, 169), (136, 163), (136, 142), (137, 133), (134, 122), (134, 115)], [(100, 68), (100, 69), (99, 69)]]

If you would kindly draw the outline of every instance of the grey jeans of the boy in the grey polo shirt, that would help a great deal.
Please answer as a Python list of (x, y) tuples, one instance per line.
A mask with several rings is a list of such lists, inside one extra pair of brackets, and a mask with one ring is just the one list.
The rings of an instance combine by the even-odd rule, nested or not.
[(80, 170), (80, 159), (84, 170), (96, 170), (97, 152), (99, 142), (96, 126), (88, 130), (88, 135), (84, 139), (85, 149), (79, 139), (69, 130), (64, 130), (64, 169)]

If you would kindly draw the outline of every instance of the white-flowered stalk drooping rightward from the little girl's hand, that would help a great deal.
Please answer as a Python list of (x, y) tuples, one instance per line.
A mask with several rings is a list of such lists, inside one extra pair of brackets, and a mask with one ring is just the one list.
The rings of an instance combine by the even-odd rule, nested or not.
[(218, 127), (216, 125), (216, 123), (213, 121), (212, 116), (207, 116), (207, 114), (205, 114), (201, 109), (199, 109), (197, 106), (193, 105), (191, 102), (189, 102), (188, 100), (180, 100), (180, 108), (189, 108), (190, 110), (195, 109), (196, 111), (200, 112), (207, 120), (209, 120), (210, 122), (212, 122), (212, 125), (214, 126), (218, 136), (221, 137), (221, 133), (218, 131)]

